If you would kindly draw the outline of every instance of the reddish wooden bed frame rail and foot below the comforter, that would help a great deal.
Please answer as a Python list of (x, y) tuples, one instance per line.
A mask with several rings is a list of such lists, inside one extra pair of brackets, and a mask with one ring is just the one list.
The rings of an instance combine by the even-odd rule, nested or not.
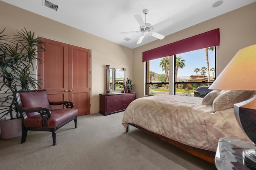
[[(152, 131), (148, 131), (147, 129), (144, 129), (143, 127), (140, 127), (138, 125), (135, 125), (135, 124), (132, 124), (132, 123), (129, 123), (129, 125), (132, 125), (150, 135), (153, 135), (155, 137), (158, 137), (160, 138), (161, 140), (167, 142), (167, 143), (170, 143), (171, 145), (174, 145), (175, 147), (178, 147), (179, 149), (182, 149), (182, 150), (185, 150), (186, 152), (190, 153), (190, 154), (193, 154), (195, 156), (198, 156), (199, 158), (202, 158), (203, 160), (206, 160), (212, 164), (214, 164), (214, 157), (215, 157), (215, 154), (216, 152), (213, 152), (213, 151), (210, 151), (210, 150), (204, 150), (204, 149), (199, 149), (199, 148), (195, 148), (195, 147), (191, 147), (191, 146), (188, 146), (188, 145), (185, 145), (183, 143), (179, 143), (177, 141), (174, 141), (172, 139), (169, 139), (167, 137), (164, 137), (162, 135), (158, 135)], [(129, 125), (127, 126), (126, 128), (126, 132), (129, 131)]]

